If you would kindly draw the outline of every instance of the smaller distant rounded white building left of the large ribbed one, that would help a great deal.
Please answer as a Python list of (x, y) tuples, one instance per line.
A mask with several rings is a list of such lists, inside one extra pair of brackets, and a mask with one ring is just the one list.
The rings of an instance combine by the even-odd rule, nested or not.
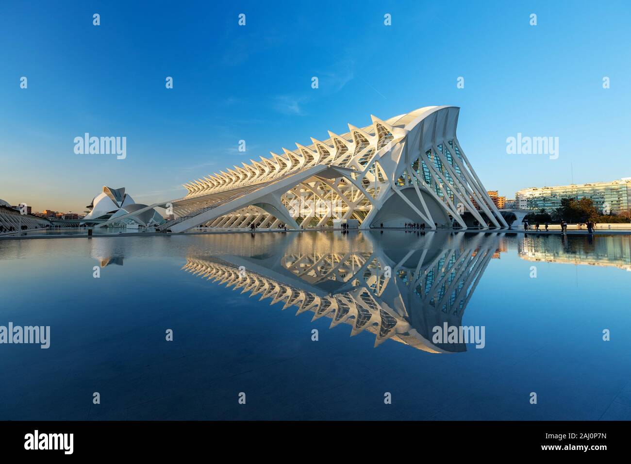
[(86, 208), (89, 212), (81, 222), (88, 225), (107, 221), (113, 226), (126, 226), (131, 223), (150, 226), (165, 222), (158, 211), (147, 205), (135, 203), (134, 199), (125, 193), (124, 187), (112, 189), (103, 186), (102, 193), (95, 196)]

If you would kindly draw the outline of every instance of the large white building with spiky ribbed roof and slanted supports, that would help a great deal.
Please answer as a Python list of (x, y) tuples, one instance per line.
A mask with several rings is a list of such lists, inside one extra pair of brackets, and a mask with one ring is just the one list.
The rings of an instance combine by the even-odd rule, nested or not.
[(369, 126), (349, 124), (347, 133), (329, 131), (324, 141), (191, 181), (184, 198), (147, 208), (172, 208), (175, 219), (160, 227), (172, 232), (350, 220), (361, 229), (454, 221), (463, 229), (508, 227), (457, 140), (458, 114), (458, 107), (432, 106), (385, 121), (371, 116)]

